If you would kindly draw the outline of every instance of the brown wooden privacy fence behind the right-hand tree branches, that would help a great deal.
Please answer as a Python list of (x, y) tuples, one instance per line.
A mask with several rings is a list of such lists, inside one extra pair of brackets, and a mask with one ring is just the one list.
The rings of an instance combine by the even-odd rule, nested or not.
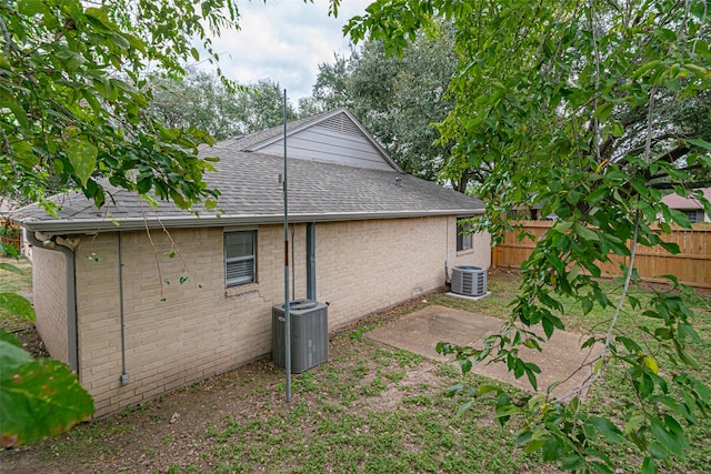
[[(523, 230), (534, 239), (553, 226), (551, 221), (523, 221)], [(692, 224), (692, 229), (674, 229), (669, 234), (661, 234), (665, 242), (679, 245), (680, 253), (672, 255), (661, 246), (637, 248), (634, 266), (640, 276), (650, 281), (660, 280), (661, 275), (674, 275), (680, 282), (692, 286), (711, 288), (711, 223)], [(524, 239), (519, 241), (517, 233), (509, 232), (500, 244), (491, 250), (493, 266), (520, 269), (521, 263), (529, 258), (535, 241)], [(611, 262), (602, 264), (603, 276), (618, 276), (620, 263), (628, 263), (629, 258), (612, 255)]]

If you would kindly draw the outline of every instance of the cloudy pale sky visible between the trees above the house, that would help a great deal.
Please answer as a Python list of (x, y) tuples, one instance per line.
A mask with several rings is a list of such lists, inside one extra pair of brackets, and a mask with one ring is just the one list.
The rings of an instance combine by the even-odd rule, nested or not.
[(311, 95), (320, 63), (333, 63), (334, 52), (350, 56), (342, 28), (370, 2), (341, 0), (333, 18), (328, 0), (242, 0), (238, 2), (241, 29), (214, 38), (213, 50), (227, 78), (241, 84), (271, 79), (296, 104)]

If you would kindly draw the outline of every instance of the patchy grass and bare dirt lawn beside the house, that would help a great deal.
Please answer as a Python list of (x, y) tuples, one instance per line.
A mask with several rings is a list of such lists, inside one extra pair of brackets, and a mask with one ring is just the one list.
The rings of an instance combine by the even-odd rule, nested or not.
[[(492, 295), (477, 302), (428, 295), (429, 303), (504, 317), (518, 275), (490, 272)], [(605, 283), (607, 284), (607, 283)], [(610, 294), (614, 286), (610, 283)], [(694, 302), (703, 342), (693, 347), (711, 381), (709, 301)], [(283, 371), (258, 361), (191, 384), (123, 413), (77, 426), (39, 446), (0, 453), (8, 472), (146, 473), (550, 473), (537, 456), (514, 448), (511, 431), (492, 415), (487, 395), (455, 416), (460, 399), (447, 391), (462, 381), (452, 364), (393, 350), (364, 337), (368, 331), (421, 307), (408, 304), (374, 315), (330, 341), (330, 360), (292, 377), (284, 401)], [(563, 316), (568, 327), (593, 330), (609, 319), (594, 313)], [(624, 319), (635, 317), (625, 311)], [(629, 322), (622, 321), (622, 324)], [(612, 374), (612, 383), (623, 383)], [(615, 376), (618, 379), (615, 379)], [(472, 385), (492, 382), (475, 374)], [(511, 389), (513, 391), (513, 389)], [(515, 391), (514, 391), (515, 392)], [(599, 387), (594, 406), (608, 406)], [(671, 472), (711, 472), (711, 424), (688, 430), (692, 448)], [(635, 472), (633, 452), (613, 452), (618, 472)]]

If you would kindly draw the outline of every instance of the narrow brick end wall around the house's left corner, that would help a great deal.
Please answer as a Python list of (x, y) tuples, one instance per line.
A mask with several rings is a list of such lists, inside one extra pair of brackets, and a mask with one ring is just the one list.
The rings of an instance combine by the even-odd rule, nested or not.
[(38, 315), (34, 325), (54, 359), (69, 362), (67, 351), (67, 258), (63, 253), (34, 249), (32, 303)]

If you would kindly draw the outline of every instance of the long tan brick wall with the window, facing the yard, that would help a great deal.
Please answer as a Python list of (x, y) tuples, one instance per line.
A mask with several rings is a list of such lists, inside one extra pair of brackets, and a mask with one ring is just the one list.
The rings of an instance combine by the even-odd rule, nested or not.
[[(477, 236), (473, 250), (458, 255), (453, 218), (320, 223), (316, 233), (317, 299), (330, 303), (331, 330), (442, 286), (448, 235), (450, 269), (489, 266), (491, 254), (489, 239)], [(122, 233), (130, 377), (122, 386), (119, 235), (82, 239), (80, 380), (98, 415), (270, 353), (271, 306), (284, 297), (283, 228), (259, 226), (257, 241), (258, 283), (226, 289), (222, 229)], [(293, 246), (296, 296), (304, 297), (306, 225), (296, 226)], [(189, 280), (181, 284), (181, 276)]]

